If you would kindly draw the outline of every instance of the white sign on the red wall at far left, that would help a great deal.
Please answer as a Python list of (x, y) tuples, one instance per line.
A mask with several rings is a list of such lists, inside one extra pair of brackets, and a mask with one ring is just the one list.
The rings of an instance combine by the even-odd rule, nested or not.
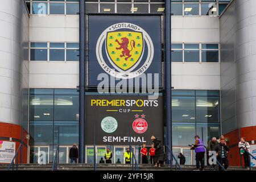
[(11, 163), (15, 156), (15, 142), (0, 141), (0, 163)]

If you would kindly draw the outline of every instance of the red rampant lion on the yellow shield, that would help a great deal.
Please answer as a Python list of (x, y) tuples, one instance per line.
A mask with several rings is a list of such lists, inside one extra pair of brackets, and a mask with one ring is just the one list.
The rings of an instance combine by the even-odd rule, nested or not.
[(121, 40), (122, 42), (120, 43), (117, 39), (115, 39), (115, 42), (117, 42), (120, 46), (120, 47), (116, 47), (115, 49), (117, 50), (123, 49), (122, 55), (120, 55), (120, 57), (125, 57), (125, 60), (127, 61), (131, 57), (130, 52), (133, 51), (133, 48), (135, 48), (135, 41), (131, 40), (130, 42), (131, 49), (129, 49), (128, 48), (129, 39), (121, 38)]

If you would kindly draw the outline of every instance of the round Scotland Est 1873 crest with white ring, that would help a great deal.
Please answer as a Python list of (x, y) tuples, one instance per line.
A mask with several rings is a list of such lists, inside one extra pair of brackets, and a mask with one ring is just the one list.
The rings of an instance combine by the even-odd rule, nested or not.
[(109, 75), (134, 78), (150, 67), (154, 46), (143, 28), (132, 23), (117, 23), (106, 28), (98, 38), (96, 56)]

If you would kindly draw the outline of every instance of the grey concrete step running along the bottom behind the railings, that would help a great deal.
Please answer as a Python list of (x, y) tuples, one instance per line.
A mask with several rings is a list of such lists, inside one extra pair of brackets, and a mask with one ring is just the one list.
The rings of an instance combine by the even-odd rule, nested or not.
[[(0, 164), (0, 171), (7, 170), (8, 164)], [(163, 165), (162, 167), (154, 167), (152, 164), (139, 164), (139, 170), (142, 171), (170, 171), (170, 166)], [(196, 168), (196, 166), (192, 165), (181, 165), (183, 171), (192, 171)], [(14, 167), (15, 169), (15, 167)], [(20, 171), (23, 170), (36, 170), (36, 171), (51, 171), (52, 164), (19, 164)], [(71, 171), (92, 171), (94, 170), (93, 164), (58, 164), (58, 170), (71, 170)], [(172, 166), (172, 169), (175, 170), (175, 165)], [(131, 170), (131, 164), (97, 164), (97, 170), (104, 171), (104, 170)], [(177, 170), (179, 170), (177, 168)], [(228, 171), (247, 171), (249, 168), (243, 167), (232, 167), (228, 168)], [(253, 171), (256, 171), (256, 168), (252, 168)], [(209, 171), (209, 167), (205, 167), (205, 171)]]

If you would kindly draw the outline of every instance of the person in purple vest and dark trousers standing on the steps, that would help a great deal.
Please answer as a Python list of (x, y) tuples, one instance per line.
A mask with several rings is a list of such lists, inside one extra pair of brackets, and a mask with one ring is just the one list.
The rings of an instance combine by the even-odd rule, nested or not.
[(204, 142), (200, 139), (199, 135), (195, 136), (195, 144), (193, 144), (192, 149), (195, 149), (196, 152), (196, 168), (194, 171), (200, 171), (200, 164), (201, 164), (201, 171), (204, 171), (204, 154), (205, 154), (205, 147)]

